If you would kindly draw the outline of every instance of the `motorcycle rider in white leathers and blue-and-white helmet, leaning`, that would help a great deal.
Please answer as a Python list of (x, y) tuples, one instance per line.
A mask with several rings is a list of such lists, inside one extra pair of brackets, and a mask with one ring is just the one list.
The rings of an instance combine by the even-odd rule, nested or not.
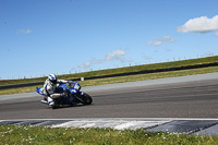
[(60, 84), (71, 83), (72, 81), (57, 80), (56, 74), (49, 74), (48, 78), (44, 83), (44, 94), (47, 96), (47, 101), (49, 106), (53, 106), (53, 98), (64, 96), (64, 93), (57, 93), (57, 88)]

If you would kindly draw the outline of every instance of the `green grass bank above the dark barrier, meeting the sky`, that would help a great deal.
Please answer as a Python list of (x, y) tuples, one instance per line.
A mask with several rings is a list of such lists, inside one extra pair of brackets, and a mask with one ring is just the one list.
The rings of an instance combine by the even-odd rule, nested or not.
[[(204, 64), (204, 63), (211, 63), (211, 62), (218, 62), (218, 56), (208, 57), (208, 58), (201, 58), (201, 59), (174, 61), (174, 62), (144, 64), (144, 65), (128, 67), (128, 68), (120, 68), (120, 69), (109, 69), (109, 70), (101, 70), (101, 71), (92, 71), (92, 72), (84, 72), (84, 73), (76, 73), (76, 74), (65, 74), (65, 75), (59, 75), (58, 77), (64, 78), (64, 80), (73, 80), (73, 78), (80, 78), (80, 77), (101, 76), (101, 75), (109, 75), (109, 74), (117, 74), (117, 73), (138, 72), (138, 71), (145, 71), (145, 70), (166, 69), (166, 68), (174, 68), (174, 67), (182, 67), (182, 65)], [(45, 80), (46, 80), (46, 77), (23, 78), (23, 80), (5, 80), (5, 81), (0, 81), (0, 85), (41, 82), (41, 81), (45, 81)]]

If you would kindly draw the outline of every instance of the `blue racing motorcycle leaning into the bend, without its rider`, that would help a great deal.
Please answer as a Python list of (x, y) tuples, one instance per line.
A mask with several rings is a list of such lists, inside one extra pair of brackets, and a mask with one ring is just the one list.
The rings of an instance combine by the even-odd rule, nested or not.
[[(48, 97), (44, 94), (44, 87), (36, 87), (36, 92), (44, 96), (41, 102), (48, 105)], [(93, 102), (93, 98), (88, 94), (81, 92), (81, 85), (77, 82), (61, 84), (56, 92), (64, 93), (64, 96), (53, 98), (55, 106), (52, 106), (52, 109), (61, 106), (90, 105)]]

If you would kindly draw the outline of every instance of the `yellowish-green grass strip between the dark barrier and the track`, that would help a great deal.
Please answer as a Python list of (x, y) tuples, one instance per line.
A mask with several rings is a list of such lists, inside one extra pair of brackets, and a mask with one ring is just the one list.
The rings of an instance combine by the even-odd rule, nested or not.
[[(204, 73), (213, 73), (213, 72), (218, 72), (218, 67), (172, 71), (172, 72), (161, 72), (161, 73), (150, 73), (150, 74), (140, 74), (140, 75), (129, 75), (129, 76), (118, 76), (118, 77), (108, 77), (108, 78), (97, 78), (97, 80), (88, 80), (88, 81), (83, 81), (83, 82), (78, 81), (78, 83), (82, 85), (82, 87), (84, 87), (84, 86), (95, 86), (95, 85), (134, 82), (134, 81), (143, 81), (143, 80), (195, 75), (195, 74), (204, 74)], [(0, 95), (35, 92), (36, 87), (41, 87), (41, 86), (37, 85), (37, 86), (21, 87), (21, 88), (0, 89)]]

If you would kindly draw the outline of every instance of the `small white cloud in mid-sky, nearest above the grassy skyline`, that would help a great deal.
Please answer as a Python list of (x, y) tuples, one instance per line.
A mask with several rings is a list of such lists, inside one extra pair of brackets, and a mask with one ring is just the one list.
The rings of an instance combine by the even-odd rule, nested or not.
[(114, 50), (113, 52), (111, 53), (108, 53), (105, 58), (105, 61), (110, 61), (110, 60), (121, 60), (123, 61), (124, 58), (122, 57), (123, 55), (125, 55), (125, 51), (123, 50)]

